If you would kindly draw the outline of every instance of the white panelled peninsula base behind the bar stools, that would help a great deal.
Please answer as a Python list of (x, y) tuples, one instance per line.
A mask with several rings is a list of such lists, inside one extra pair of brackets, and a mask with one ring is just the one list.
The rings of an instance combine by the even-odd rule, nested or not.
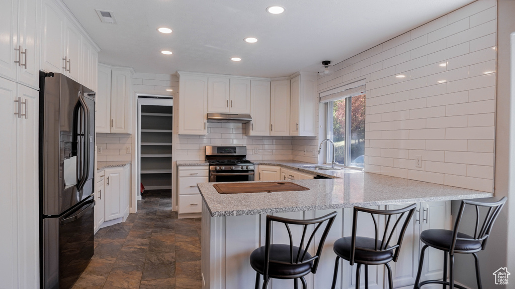
[[(381, 205), (371, 206), (375, 209), (396, 209), (405, 206)], [(417, 211), (407, 228), (402, 251), (398, 262), (390, 262), (393, 270), (394, 287), (413, 287), (418, 267), (418, 257), (421, 249), (419, 234), (428, 228), (451, 228), (451, 202), (424, 202), (417, 203)], [(333, 279), (334, 260), (333, 243), (341, 238), (351, 235), (352, 207), (308, 210), (296, 212), (272, 213), (292, 219), (312, 219), (323, 216), (332, 211), (337, 211), (329, 235), (324, 243), (321, 260), (316, 274), (305, 276), (308, 288), (330, 288)], [(202, 288), (203, 289), (251, 289), (255, 286), (255, 271), (250, 266), (249, 256), (251, 252), (264, 246), (266, 214), (249, 214), (236, 216), (211, 216), (211, 213), (202, 202)], [(380, 225), (385, 225), (385, 220), (380, 220)], [(358, 236), (373, 238), (373, 231), (369, 230), (372, 220), (363, 218), (358, 223)], [(311, 230), (313, 226), (311, 227)], [(301, 231), (292, 231), (299, 237)], [(321, 232), (315, 235), (318, 242)], [(393, 240), (394, 241), (394, 240)], [(284, 227), (272, 227), (272, 243), (288, 244), (288, 235)], [(313, 254), (315, 248), (310, 248)], [(443, 255), (437, 252), (428, 252), (424, 261), (424, 269), (421, 279), (438, 279), (443, 276)], [(336, 288), (355, 288), (355, 267), (348, 262), (340, 260), (338, 280)], [(364, 282), (364, 270), (362, 270), (362, 282)], [(369, 288), (387, 288), (385, 267), (369, 266)], [(261, 284), (263, 283), (261, 277)], [(292, 280), (272, 279), (268, 288), (293, 288)], [(431, 288), (431, 287), (428, 287)]]

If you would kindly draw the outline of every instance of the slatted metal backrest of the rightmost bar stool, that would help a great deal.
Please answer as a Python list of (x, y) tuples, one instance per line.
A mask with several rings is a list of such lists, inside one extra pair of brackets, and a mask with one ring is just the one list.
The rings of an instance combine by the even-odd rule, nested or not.
[[(503, 198), (501, 198), (501, 200), (494, 202), (494, 203), (485, 203), (485, 202), (468, 201), (468, 200), (461, 201), (461, 205), (459, 206), (458, 215), (456, 217), (456, 223), (454, 224), (453, 240), (451, 243), (450, 254), (452, 255), (454, 252), (456, 240), (480, 241), (480, 242), (482, 242), (481, 249), (484, 250), (486, 247), (486, 242), (488, 241), (488, 237), (490, 236), (490, 231), (492, 230), (493, 223), (497, 219), (497, 216), (499, 216), (499, 213), (501, 212), (501, 209), (503, 208), (504, 204), (506, 203), (506, 200), (508, 200), (507, 197), (503, 197)], [(461, 222), (461, 219), (464, 214), (466, 206), (473, 206), (473, 207), (475, 207), (475, 211), (476, 211), (476, 220), (475, 220), (473, 238), (459, 238), (458, 237), (459, 225), (460, 225), (460, 222)], [(486, 213), (484, 218), (481, 217), (481, 214), (479, 212), (480, 207), (488, 208), (488, 212)]]

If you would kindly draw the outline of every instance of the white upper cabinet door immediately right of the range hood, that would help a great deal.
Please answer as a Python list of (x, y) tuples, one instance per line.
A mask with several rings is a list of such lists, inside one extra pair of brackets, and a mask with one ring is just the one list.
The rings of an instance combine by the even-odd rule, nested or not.
[(250, 81), (250, 103), (247, 135), (270, 135), (270, 81)]

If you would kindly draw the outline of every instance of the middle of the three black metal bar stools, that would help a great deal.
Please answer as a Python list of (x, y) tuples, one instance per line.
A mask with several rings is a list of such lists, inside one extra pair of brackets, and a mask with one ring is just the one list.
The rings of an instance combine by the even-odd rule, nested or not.
[[(413, 216), (416, 208), (417, 204), (409, 205), (398, 210), (374, 210), (354, 207), (354, 215), (352, 219), (352, 237), (340, 238), (336, 240), (333, 245), (333, 250), (336, 253), (336, 262), (334, 265), (333, 285), (331, 288), (334, 289), (336, 286), (336, 279), (338, 277), (338, 262), (339, 259), (342, 258), (349, 261), (351, 266), (354, 265), (354, 263), (357, 264), (356, 289), (359, 288), (361, 265), (365, 265), (365, 288), (368, 289), (368, 265), (381, 264), (384, 264), (388, 269), (388, 281), (390, 289), (392, 289), (393, 281), (391, 276), (391, 267), (388, 262), (392, 260), (393, 262), (397, 262), (397, 259), (399, 258), (399, 251), (401, 249), (402, 239), (404, 237), (404, 233), (406, 232), (406, 227), (408, 226), (409, 220), (411, 219), (411, 216)], [(375, 238), (356, 237), (358, 212), (366, 212), (372, 216), (372, 220), (375, 226)], [(383, 228), (379, 228), (379, 224), (376, 220), (376, 216), (377, 219), (379, 219), (381, 215), (387, 216), (384, 230)], [(394, 223), (392, 222), (392, 216), (397, 216), (397, 221), (394, 221)], [(396, 232), (397, 225), (399, 225), (403, 217), (405, 218), (402, 223), (397, 244), (390, 246), (389, 243), (393, 237), (393, 234)], [(390, 227), (390, 223), (393, 223), (393, 226)]]

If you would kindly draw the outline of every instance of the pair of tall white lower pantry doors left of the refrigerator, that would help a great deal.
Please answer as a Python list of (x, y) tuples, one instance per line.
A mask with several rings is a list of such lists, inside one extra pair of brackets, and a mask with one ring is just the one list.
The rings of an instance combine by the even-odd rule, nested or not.
[(0, 78), (1, 288), (39, 288), (38, 96)]

